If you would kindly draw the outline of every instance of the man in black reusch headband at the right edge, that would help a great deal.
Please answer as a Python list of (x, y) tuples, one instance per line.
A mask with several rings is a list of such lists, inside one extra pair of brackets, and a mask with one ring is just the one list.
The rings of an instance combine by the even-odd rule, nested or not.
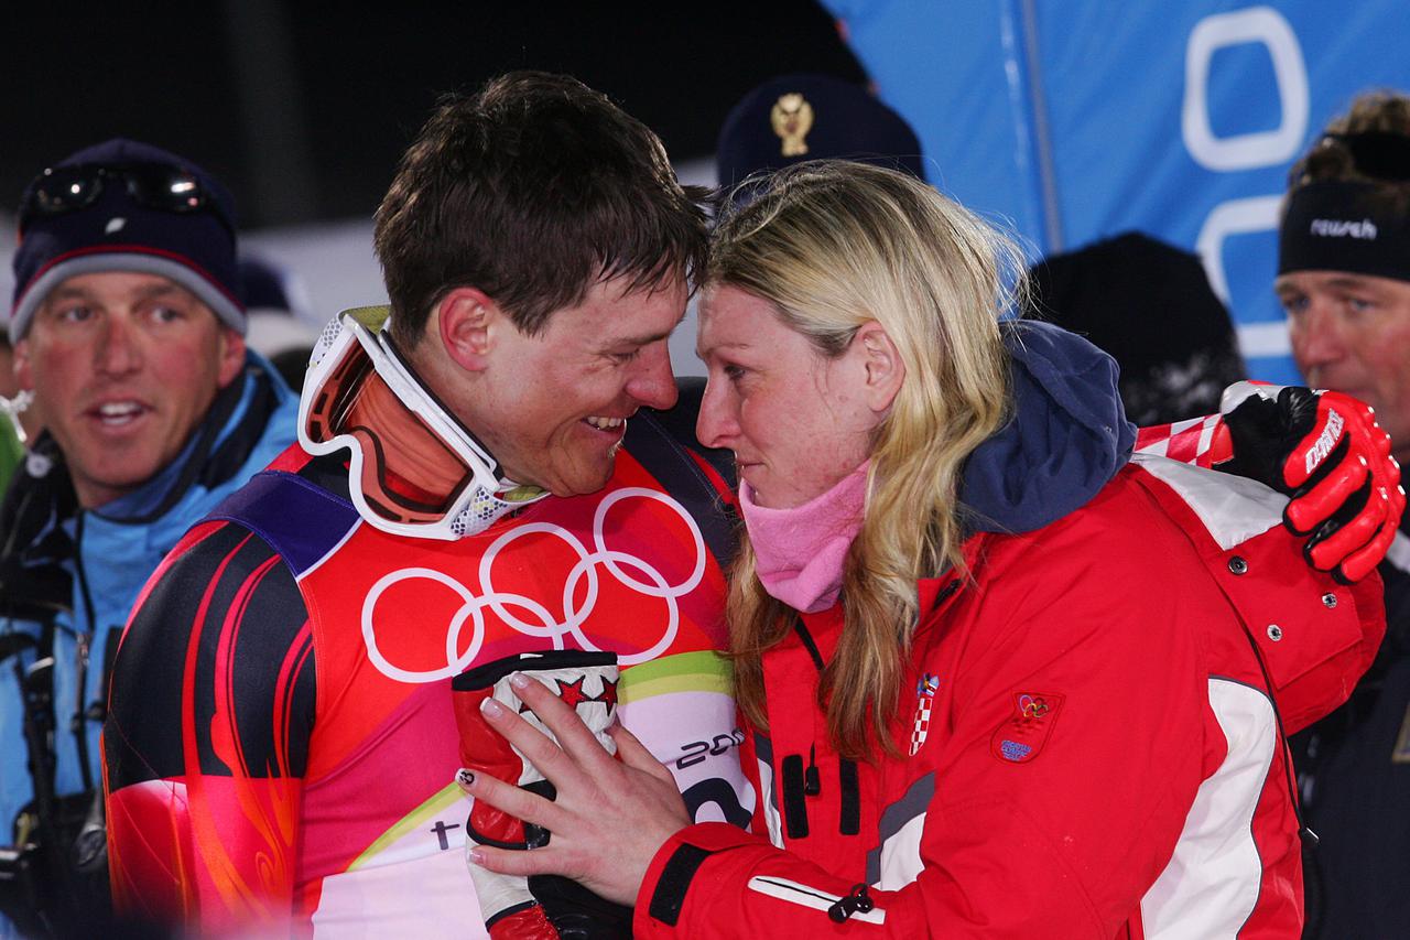
[[(1410, 96), (1372, 92), (1293, 167), (1275, 289), (1311, 385), (1369, 402), (1410, 457)], [(1308, 937), (1410, 936), (1410, 538), (1380, 574), (1386, 639), (1351, 700), (1294, 740)], [(1320, 876), (1320, 885), (1314, 878)], [(1321, 891), (1318, 892), (1318, 886)]]

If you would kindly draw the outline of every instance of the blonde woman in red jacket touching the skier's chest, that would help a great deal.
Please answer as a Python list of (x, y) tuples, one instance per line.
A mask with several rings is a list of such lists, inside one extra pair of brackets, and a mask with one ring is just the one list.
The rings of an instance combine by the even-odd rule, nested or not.
[(804, 164), (725, 216), (697, 429), (739, 469), (754, 831), (689, 824), (639, 742), (613, 761), (526, 682), (561, 749), (485, 717), (557, 802), (465, 785), (553, 840), (474, 864), (634, 903), (640, 936), (1297, 934), (1280, 721), (1365, 668), (1375, 579), (1306, 573), (1256, 484), (1128, 463), (1110, 358), (1001, 322), (1021, 270), (873, 167)]

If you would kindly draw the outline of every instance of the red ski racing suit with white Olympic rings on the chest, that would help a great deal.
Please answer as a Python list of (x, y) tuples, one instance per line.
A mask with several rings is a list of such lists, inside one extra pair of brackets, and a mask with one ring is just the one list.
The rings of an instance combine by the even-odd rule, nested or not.
[(104, 757), (120, 910), (202, 932), (484, 937), (451, 679), (620, 658), (622, 723), (697, 819), (749, 821), (722, 477), (653, 415), (608, 487), (454, 542), (389, 535), (296, 447), (182, 541), (124, 634)]

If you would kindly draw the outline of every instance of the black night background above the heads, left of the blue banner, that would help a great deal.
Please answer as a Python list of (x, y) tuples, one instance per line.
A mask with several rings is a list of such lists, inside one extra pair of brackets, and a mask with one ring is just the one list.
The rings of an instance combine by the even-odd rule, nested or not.
[(864, 80), (814, 0), (746, 3), (7, 3), (0, 210), (109, 137), (224, 181), (243, 227), (368, 217), (439, 93), (509, 69), (612, 96), (677, 162), (708, 157), (766, 78)]

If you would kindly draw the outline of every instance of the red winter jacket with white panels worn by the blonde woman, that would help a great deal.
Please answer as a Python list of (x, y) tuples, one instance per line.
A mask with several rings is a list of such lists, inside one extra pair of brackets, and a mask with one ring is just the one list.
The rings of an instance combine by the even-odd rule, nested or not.
[(1385, 621), (1378, 580), (1310, 570), (1280, 507), (1138, 457), (1058, 522), (976, 535), (973, 582), (919, 583), (900, 757), (873, 764), (816, 707), (840, 613), (804, 615), (764, 653), (756, 834), (667, 841), (637, 936), (1299, 936), (1279, 717), (1342, 701)]

